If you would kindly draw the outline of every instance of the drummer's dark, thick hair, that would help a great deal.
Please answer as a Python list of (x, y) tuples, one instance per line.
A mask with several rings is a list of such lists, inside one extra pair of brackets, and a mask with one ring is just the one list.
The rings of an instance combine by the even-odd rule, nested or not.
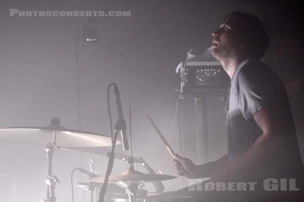
[(226, 15), (222, 22), (233, 18), (235, 21), (236, 41), (243, 43), (247, 54), (260, 60), (269, 46), (269, 38), (263, 23), (253, 14), (246, 11), (235, 11)]

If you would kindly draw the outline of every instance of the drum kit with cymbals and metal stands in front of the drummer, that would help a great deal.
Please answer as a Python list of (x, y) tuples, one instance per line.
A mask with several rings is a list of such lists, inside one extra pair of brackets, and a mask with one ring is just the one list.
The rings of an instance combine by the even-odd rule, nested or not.
[[(52, 173), (52, 159), (54, 151), (56, 149), (65, 150), (76, 150), (84, 153), (91, 153), (97, 155), (106, 155), (107, 149), (102, 149), (106, 146), (112, 145), (111, 137), (92, 133), (82, 130), (72, 130), (60, 125), (59, 118), (53, 118), (51, 124), (46, 127), (11, 127), (11, 128), (1, 128), (0, 129), (0, 141), (17, 142), (24, 144), (34, 144), (34, 145), (45, 145), (45, 150), (47, 153), (47, 197), (41, 201), (43, 202), (56, 202), (57, 198), (55, 195), (56, 184), (59, 183), (59, 179), (56, 175)], [(121, 142), (117, 140), (117, 144)], [(103, 153), (103, 154), (102, 154)], [(117, 159), (128, 159), (130, 168), (119, 175), (110, 175), (108, 178), (108, 190), (106, 193), (107, 201), (156, 201), (157, 194), (147, 194), (147, 191), (141, 189), (143, 183), (146, 182), (160, 182), (164, 180), (170, 180), (176, 178), (170, 175), (161, 174), (145, 174), (134, 169), (133, 163), (141, 163), (143, 165), (146, 162), (140, 158), (130, 157), (123, 154), (115, 154)], [(147, 166), (147, 165), (146, 165)], [(78, 183), (78, 187), (85, 190), (94, 190), (95, 197), (91, 197), (91, 201), (98, 201), (97, 189), (100, 184), (104, 182), (104, 176), (90, 177), (87, 179), (89, 183), (81, 182)], [(116, 185), (120, 184), (125, 187), (125, 193), (122, 193), (122, 187)], [(93, 185), (93, 189), (90, 186)], [(110, 190), (117, 190), (120, 195), (115, 197)], [(113, 191), (115, 192), (115, 191)], [(92, 195), (91, 195), (92, 196)], [(126, 197), (127, 196), (127, 197)], [(186, 198), (187, 196), (165, 196), (158, 198), (158, 201), (168, 201), (168, 198)]]

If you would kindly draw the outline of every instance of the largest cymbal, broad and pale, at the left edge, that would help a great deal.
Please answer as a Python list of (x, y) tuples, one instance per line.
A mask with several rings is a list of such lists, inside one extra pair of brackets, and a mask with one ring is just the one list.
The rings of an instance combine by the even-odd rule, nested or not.
[[(57, 146), (110, 146), (111, 138), (102, 134), (82, 130), (67, 129), (62, 126), (46, 127), (10, 127), (0, 128), (0, 140), (45, 145), (53, 142), (53, 132), (56, 131)], [(117, 144), (121, 142), (117, 140)]]

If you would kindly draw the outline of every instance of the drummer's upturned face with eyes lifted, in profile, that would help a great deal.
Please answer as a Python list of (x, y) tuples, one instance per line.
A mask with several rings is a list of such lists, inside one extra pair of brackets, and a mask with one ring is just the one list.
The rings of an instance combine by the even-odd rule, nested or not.
[(226, 19), (217, 29), (212, 33), (212, 51), (211, 55), (218, 61), (222, 61), (232, 57), (234, 48), (233, 42), (233, 22), (232, 19)]

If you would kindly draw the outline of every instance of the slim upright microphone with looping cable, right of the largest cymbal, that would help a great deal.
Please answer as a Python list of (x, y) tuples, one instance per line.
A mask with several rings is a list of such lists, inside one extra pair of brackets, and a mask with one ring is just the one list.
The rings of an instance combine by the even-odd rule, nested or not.
[(126, 121), (124, 119), (120, 94), (119, 94), (119, 90), (118, 90), (118, 87), (116, 84), (114, 86), (114, 93), (116, 96), (116, 106), (117, 106), (117, 113), (118, 113), (118, 122), (116, 123), (117, 124), (116, 129), (120, 130), (120, 132), (121, 132), (123, 149), (129, 150), (129, 142), (128, 142), (127, 133), (126, 133), (127, 125), (126, 125)]

